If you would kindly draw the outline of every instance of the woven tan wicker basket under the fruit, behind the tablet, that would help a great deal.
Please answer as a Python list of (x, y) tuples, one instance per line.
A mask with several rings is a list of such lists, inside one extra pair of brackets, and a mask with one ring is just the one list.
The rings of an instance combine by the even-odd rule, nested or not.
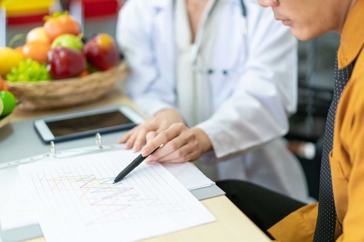
[(95, 101), (107, 94), (118, 81), (125, 78), (125, 62), (107, 71), (95, 72), (81, 78), (51, 82), (7, 82), (9, 91), (21, 101), (18, 108), (26, 111), (66, 108)]

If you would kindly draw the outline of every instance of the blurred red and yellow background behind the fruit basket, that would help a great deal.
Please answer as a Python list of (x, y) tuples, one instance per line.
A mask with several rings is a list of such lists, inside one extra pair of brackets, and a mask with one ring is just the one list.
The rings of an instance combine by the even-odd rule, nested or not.
[[(0, 46), (7, 46), (13, 36), (43, 25), (43, 16), (68, 10), (81, 23), (85, 37), (108, 33), (115, 37), (118, 11), (124, 0), (0, 0)], [(19, 40), (14, 46), (20, 46)]]

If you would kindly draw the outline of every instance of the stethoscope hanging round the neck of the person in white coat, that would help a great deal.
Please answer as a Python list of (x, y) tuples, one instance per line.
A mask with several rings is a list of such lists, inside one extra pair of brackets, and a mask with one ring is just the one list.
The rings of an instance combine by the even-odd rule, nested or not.
[[(210, 11), (207, 14), (207, 18), (211, 15), (213, 8), (216, 6), (218, 0), (216, 0), (213, 4), (213, 6), (211, 6)], [(243, 43), (242, 45), (244, 46), (244, 56), (241, 57), (241, 63), (240, 63), (240, 67), (241, 69), (239, 69), (239, 71), (236, 70), (230, 70), (230, 69), (222, 69), (222, 70), (217, 70), (217, 69), (212, 69), (212, 68), (199, 68), (197, 65), (197, 56), (198, 56), (198, 52), (201, 46), (201, 42), (202, 42), (202, 37), (203, 37), (203, 29), (204, 29), (204, 24), (206, 23), (207, 19), (204, 21), (203, 26), (201, 27), (200, 31), (198, 31), (197, 35), (196, 35), (196, 39), (194, 41), (194, 44), (192, 45), (192, 50), (191, 50), (191, 55), (190, 55), (190, 62), (192, 65), (192, 70), (193, 72), (196, 72), (198, 74), (202, 74), (202, 75), (213, 75), (216, 73), (221, 73), (224, 76), (229, 76), (229, 77), (238, 77), (239, 75), (242, 74), (243, 72), (243, 64), (244, 61), (246, 60), (247, 57), (247, 21), (246, 21), (246, 7), (245, 4), (243, 2), (243, 0), (240, 0), (240, 8), (241, 8), (241, 18), (240, 18), (240, 29), (241, 29), (241, 33), (243, 35)]]

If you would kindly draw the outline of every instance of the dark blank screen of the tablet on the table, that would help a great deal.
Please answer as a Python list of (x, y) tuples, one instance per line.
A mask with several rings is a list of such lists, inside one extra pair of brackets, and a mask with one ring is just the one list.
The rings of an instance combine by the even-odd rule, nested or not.
[(45, 123), (54, 137), (59, 137), (67, 134), (133, 123), (133, 121), (125, 117), (122, 113), (115, 111), (67, 120), (46, 121)]

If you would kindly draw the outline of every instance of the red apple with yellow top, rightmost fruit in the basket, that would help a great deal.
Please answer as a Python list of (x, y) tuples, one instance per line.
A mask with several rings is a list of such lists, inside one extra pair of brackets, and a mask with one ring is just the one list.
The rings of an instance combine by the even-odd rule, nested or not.
[(107, 70), (120, 61), (119, 51), (113, 37), (108, 34), (97, 34), (88, 40), (83, 47), (87, 59), (99, 70)]

